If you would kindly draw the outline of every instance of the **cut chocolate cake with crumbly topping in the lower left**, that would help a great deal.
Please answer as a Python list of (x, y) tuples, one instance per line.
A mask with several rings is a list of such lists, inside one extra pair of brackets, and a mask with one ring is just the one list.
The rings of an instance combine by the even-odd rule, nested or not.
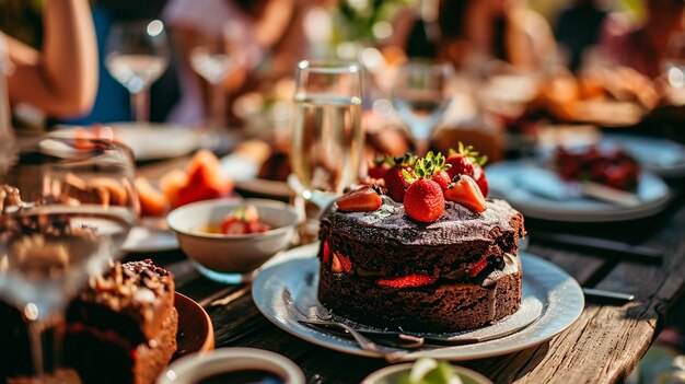
[(172, 275), (151, 260), (114, 264), (67, 310), (65, 365), (84, 383), (152, 383), (176, 351)]

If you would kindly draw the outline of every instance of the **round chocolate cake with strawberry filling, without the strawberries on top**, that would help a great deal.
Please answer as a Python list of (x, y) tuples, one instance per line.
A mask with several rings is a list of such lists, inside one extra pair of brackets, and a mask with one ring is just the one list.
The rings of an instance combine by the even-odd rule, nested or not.
[(523, 217), (503, 200), (477, 213), (445, 201), (431, 223), (387, 196), (370, 212), (330, 205), (321, 218), (318, 300), (335, 314), (383, 328), (456, 331), (521, 303)]

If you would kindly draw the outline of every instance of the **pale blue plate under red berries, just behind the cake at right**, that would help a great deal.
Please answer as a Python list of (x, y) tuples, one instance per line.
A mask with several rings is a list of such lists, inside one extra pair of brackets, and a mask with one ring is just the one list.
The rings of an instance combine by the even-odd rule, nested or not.
[[(665, 209), (671, 191), (669, 186), (658, 176), (643, 171), (637, 196), (643, 201), (640, 206), (625, 208), (592, 198), (550, 198), (548, 196), (564, 188), (560, 178), (549, 172), (543, 177), (544, 170), (531, 161), (511, 161), (492, 164), (486, 168), (490, 185), (490, 197), (500, 197), (525, 217), (569, 221), (569, 222), (609, 222), (626, 221), (650, 217)], [(539, 174), (538, 190), (531, 190), (532, 183), (523, 183), (532, 172)], [(542, 189), (548, 189), (549, 194)], [(560, 196), (560, 194), (559, 194)]]

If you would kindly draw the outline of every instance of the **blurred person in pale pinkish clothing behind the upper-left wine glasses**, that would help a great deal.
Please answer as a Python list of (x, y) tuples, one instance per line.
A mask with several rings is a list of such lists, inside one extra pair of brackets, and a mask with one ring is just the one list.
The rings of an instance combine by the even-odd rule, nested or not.
[[(298, 1), (302, 2), (302, 1)], [(298, 19), (295, 0), (170, 0), (163, 19), (173, 31), (179, 50), (183, 97), (171, 116), (172, 120), (196, 124), (206, 119), (209, 104), (204, 92), (206, 82), (193, 72), (190, 51), (202, 43), (202, 36), (218, 36), (227, 26), (240, 33), (240, 56), (232, 63), (223, 82), (230, 96), (254, 88), (256, 72), (269, 61), (271, 77), (294, 71), (301, 57), (292, 57), (298, 47), (288, 44), (289, 32)], [(282, 49), (287, 47), (287, 49)], [(230, 102), (229, 102), (230, 104)], [(229, 114), (230, 114), (229, 109)]]

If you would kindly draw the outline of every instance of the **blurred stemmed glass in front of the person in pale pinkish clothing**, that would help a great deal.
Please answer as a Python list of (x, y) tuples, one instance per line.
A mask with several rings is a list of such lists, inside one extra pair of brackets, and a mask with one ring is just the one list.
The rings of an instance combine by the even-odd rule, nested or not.
[(230, 71), (242, 60), (242, 30), (227, 23), (217, 34), (201, 34), (200, 44), (190, 50), (190, 66), (211, 88), (210, 126), (227, 125), (225, 91), (223, 83)]

